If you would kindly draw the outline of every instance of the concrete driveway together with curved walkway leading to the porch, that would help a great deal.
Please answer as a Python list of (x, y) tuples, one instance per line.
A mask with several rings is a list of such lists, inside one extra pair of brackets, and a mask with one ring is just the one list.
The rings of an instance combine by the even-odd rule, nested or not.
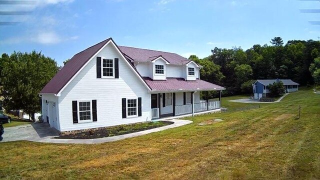
[[(54, 128), (49, 127), (46, 123), (32, 123), (27, 125), (19, 125), (15, 127), (5, 127), (4, 134), (2, 135), (3, 140), (0, 142), (6, 141), (15, 141), (15, 140), (28, 140), (34, 142), (50, 142), (50, 143), (83, 143), (83, 144), (92, 144), (92, 143), (102, 143), (102, 142), (111, 142), (116, 140), (121, 140), (129, 137), (136, 137), (151, 132), (157, 132), (173, 127), (178, 127), (192, 123), (191, 120), (180, 120), (180, 119), (171, 119), (166, 120), (174, 122), (170, 125), (165, 125), (162, 127), (152, 128), (148, 130), (143, 130), (139, 132), (133, 132), (123, 135), (116, 135), (111, 137), (102, 137), (95, 139), (56, 139), (52, 138), (58, 136), (58, 131)], [(34, 125), (36, 124), (36, 125)]]

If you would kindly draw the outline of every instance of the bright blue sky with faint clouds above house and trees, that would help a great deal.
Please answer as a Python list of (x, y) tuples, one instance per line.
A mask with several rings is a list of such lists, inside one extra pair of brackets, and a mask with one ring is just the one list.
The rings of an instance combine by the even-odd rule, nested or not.
[(118, 45), (175, 52), (188, 57), (210, 55), (215, 46), (250, 48), (274, 36), (317, 39), (320, 8), (302, 0), (38, 0), (31, 5), (0, 5), (0, 10), (31, 10), (2, 15), (0, 53), (42, 51), (59, 64), (108, 37)]

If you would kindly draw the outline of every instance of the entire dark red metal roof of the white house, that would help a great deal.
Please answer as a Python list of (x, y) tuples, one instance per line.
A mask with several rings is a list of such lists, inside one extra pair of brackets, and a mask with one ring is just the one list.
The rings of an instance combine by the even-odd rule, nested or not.
[[(58, 93), (64, 85), (76, 74), (81, 67), (112, 38), (105, 39), (81, 52), (75, 54), (43, 87), (40, 93)], [(113, 40), (112, 40), (113, 41)], [(115, 42), (113, 41), (115, 44)], [(116, 45), (116, 44), (115, 44)], [(162, 52), (157, 50), (141, 49), (135, 47), (117, 46), (126, 59), (133, 61), (149, 61), (150, 57), (162, 56), (170, 64), (186, 64), (190, 60), (176, 53)], [(131, 64), (132, 65), (132, 64)], [(136, 69), (135, 69), (136, 70)], [(137, 72), (138, 73), (138, 72)], [(138, 73), (139, 74), (139, 73)], [(185, 81), (183, 78), (167, 78), (166, 81), (153, 81), (149, 77), (143, 78), (146, 84), (154, 91), (156, 90), (222, 90), (224, 87), (197, 79), (196, 81)]]

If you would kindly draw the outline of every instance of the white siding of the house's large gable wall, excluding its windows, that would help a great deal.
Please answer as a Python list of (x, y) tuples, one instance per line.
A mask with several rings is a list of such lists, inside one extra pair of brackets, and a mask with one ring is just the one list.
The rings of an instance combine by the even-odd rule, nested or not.
[[(113, 44), (106, 45), (97, 56), (119, 58), (119, 78), (96, 78), (96, 56), (62, 90), (58, 97), (60, 131), (95, 128), (150, 120), (150, 94), (134, 71), (116, 51)], [(102, 65), (101, 65), (102, 66)], [(122, 118), (121, 99), (141, 97), (141, 116)], [(97, 121), (72, 122), (72, 100), (96, 99)], [(92, 104), (92, 103), (91, 103)], [(92, 105), (91, 105), (92, 106)]]

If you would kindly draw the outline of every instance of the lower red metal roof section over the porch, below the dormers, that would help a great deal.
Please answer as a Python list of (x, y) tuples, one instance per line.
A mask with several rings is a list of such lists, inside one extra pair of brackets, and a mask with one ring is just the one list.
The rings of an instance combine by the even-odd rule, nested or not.
[(143, 77), (152, 91), (193, 91), (193, 90), (224, 90), (219, 85), (196, 79), (186, 81), (184, 78), (167, 77), (166, 80), (152, 80), (150, 77)]

